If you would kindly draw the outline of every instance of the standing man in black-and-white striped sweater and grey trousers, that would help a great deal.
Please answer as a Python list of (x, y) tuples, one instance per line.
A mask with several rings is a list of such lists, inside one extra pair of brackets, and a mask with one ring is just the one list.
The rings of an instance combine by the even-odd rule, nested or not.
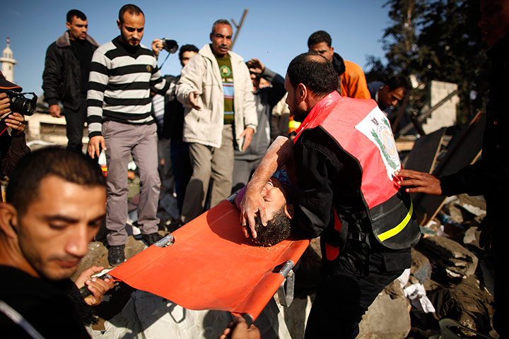
[[(160, 76), (154, 53), (140, 44), (145, 16), (135, 5), (124, 5), (117, 25), (120, 35), (100, 46), (90, 66), (88, 106), (88, 154), (105, 150), (107, 174), (108, 261), (124, 261), (127, 232), (127, 162), (132, 155), (139, 169), (141, 190), (138, 223), (150, 246), (158, 241), (156, 211), (160, 190), (156, 124), (151, 116), (150, 90), (164, 94), (168, 84)], [(157, 53), (162, 44), (154, 40)]]

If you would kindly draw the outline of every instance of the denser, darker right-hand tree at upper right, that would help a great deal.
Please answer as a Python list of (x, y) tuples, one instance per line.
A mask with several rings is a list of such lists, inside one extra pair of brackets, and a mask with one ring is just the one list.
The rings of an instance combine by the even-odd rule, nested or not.
[(417, 42), (418, 58), (412, 65), (423, 83), (431, 80), (457, 83), (461, 122), (482, 107), (488, 90), (486, 45), (481, 41), (478, 21), (476, 1), (431, 1)]

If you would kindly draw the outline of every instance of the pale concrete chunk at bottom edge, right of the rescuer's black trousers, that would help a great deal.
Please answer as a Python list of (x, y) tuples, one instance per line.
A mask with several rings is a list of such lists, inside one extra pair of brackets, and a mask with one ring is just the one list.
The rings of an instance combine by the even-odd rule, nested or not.
[(381, 292), (359, 324), (357, 339), (406, 338), (410, 332), (410, 303)]

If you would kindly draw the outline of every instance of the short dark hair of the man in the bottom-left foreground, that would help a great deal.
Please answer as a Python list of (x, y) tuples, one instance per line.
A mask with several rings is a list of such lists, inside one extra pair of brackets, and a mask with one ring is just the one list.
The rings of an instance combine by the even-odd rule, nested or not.
[(9, 179), (6, 201), (20, 215), (39, 197), (40, 182), (50, 175), (81, 186), (106, 187), (100, 166), (81, 153), (48, 147), (28, 153), (18, 162)]

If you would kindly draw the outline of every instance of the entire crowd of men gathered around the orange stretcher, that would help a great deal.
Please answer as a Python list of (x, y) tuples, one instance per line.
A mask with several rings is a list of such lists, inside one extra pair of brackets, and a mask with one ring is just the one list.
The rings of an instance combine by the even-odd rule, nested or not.
[[(156, 217), (159, 136), (170, 139), (183, 223), (247, 184), (238, 199), (246, 237), (256, 239), (263, 227), (276, 227), (276, 215), (291, 220), (298, 237), (321, 236), (324, 279), (306, 338), (355, 338), (378, 293), (409, 268), (410, 249), (420, 239), (409, 192), (484, 194), (489, 213), (484, 234), (494, 232), (496, 258), (493, 325), (505, 334), (501, 321), (508, 295), (501, 272), (507, 232), (501, 227), (501, 197), (508, 170), (502, 95), (509, 76), (509, 1), (481, 0), (479, 27), (496, 67), (483, 158), (443, 178), (401, 167), (390, 121), (392, 107), (411, 90), (408, 78), (367, 84), (360, 66), (334, 52), (327, 32), (310, 35), (308, 52), (291, 61), (283, 78), (259, 59), (246, 62), (231, 52), (232, 25), (216, 20), (210, 44), (181, 47), (182, 74), (175, 77), (158, 70), (161, 40), (153, 40), (151, 49), (141, 44), (144, 25), (141, 8), (125, 5), (117, 19), (120, 35), (99, 46), (87, 34), (85, 14), (67, 13), (66, 32), (47, 49), (42, 88), (50, 114), (66, 119), (68, 150), (30, 153), (23, 115), (11, 112), (8, 96), (0, 93), (1, 173), (10, 177), (0, 205), (0, 270), (13, 277), (1, 283), (3, 330), (50, 337), (58, 320), (66, 333), (88, 336), (86, 315), (76, 310), (98, 304), (112, 282), (92, 278), (102, 269), (95, 266), (74, 283), (69, 277), (103, 218), (108, 261), (112, 266), (124, 261), (130, 157), (141, 182), (138, 225), (144, 242), (162, 237)], [(262, 86), (264, 81), (269, 85)], [(3, 75), (0, 89), (21, 91)], [(152, 109), (156, 94), (165, 98), (159, 130)], [(285, 94), (293, 120), (302, 124), (274, 141), (272, 109)], [(87, 155), (81, 144), (85, 121)], [(96, 163), (101, 151), (106, 178)], [(76, 298), (76, 287), (84, 285), (92, 295)], [(62, 318), (41, 316), (47, 307)], [(259, 335), (242, 318), (235, 322), (223, 337)]]

